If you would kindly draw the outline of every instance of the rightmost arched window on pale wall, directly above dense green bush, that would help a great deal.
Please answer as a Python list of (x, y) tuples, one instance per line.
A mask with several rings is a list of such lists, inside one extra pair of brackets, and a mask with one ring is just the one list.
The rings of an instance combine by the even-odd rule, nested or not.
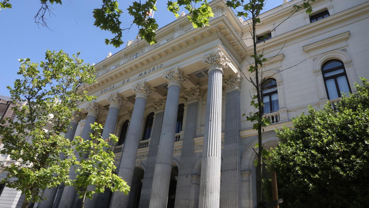
[(345, 66), (342, 61), (334, 59), (325, 62), (322, 67), (322, 73), (328, 100), (341, 97), (341, 92), (351, 93)]

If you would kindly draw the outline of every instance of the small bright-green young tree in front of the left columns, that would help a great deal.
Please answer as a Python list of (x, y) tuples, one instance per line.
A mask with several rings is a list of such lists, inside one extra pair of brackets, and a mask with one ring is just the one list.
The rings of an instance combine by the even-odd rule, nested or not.
[[(101, 124), (91, 124), (91, 128), (97, 136), (90, 133), (91, 140), (84, 140), (82, 137), (75, 137), (72, 145), (76, 146), (76, 152), (82, 158), (83, 155), (89, 155), (88, 158), (81, 161), (73, 160), (76, 168), (75, 180), (68, 181), (66, 185), (76, 187), (79, 198), (82, 198), (82, 208), (85, 199), (92, 198), (94, 193), (103, 193), (106, 189), (114, 191), (123, 191), (128, 194), (130, 187), (121, 177), (114, 174), (114, 153), (110, 150), (109, 140), (118, 141), (118, 137), (110, 134), (107, 140), (101, 137), (103, 127)], [(93, 185), (93, 190), (87, 189)]]

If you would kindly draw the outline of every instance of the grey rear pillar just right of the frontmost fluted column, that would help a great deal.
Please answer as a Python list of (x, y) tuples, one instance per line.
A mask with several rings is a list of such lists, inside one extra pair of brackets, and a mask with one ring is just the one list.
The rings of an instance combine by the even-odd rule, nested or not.
[(225, 85), (225, 127), (223, 176), (220, 207), (241, 207), (241, 129), (240, 90), (242, 77), (230, 75)]

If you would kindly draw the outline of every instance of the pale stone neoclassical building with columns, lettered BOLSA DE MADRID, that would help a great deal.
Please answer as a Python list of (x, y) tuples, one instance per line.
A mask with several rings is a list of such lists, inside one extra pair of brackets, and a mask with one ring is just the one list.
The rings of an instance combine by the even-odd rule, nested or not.
[[(301, 2), (281, 0), (257, 28), (258, 51), (268, 58), (263, 110), (272, 125), (263, 132), (265, 148), (278, 144), (274, 129), (292, 127), (308, 105), (334, 103), (341, 92), (355, 93), (359, 77), (369, 78), (369, 2), (316, 0), (311, 15), (301, 10), (287, 19)], [(194, 29), (183, 14), (156, 31), (157, 44), (127, 41), (95, 65), (97, 83), (88, 91), (96, 100), (80, 104), (66, 137), (88, 138), (93, 122), (103, 124), (103, 138), (117, 135), (116, 172), (131, 191), (107, 190), (86, 207), (256, 207), (257, 132), (242, 116), (255, 112), (256, 91), (243, 75), (255, 78), (248, 72), (250, 28), (224, 0), (210, 5), (210, 26)], [(78, 201), (69, 186), (45, 195), (37, 207)], [(11, 199), (1, 194), (0, 207), (7, 207), (3, 200)]]

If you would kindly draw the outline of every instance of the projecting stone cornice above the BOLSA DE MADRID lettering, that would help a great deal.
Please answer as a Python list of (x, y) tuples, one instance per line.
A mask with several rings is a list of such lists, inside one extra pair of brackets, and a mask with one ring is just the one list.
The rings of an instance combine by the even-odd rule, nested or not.
[(94, 93), (93, 90), (96, 88), (100, 88), (114, 80), (124, 80), (216, 39), (220, 39), (238, 63), (241, 63), (242, 58), (246, 56), (245, 46), (242, 45), (242, 41), (237, 41), (240, 37), (233, 28), (227, 28), (228, 22), (225, 23), (225, 21), (227, 20), (224, 16), (218, 17), (217, 21), (210, 27), (183, 34), (168, 41), (169, 44), (167, 43), (165, 46), (163, 44), (151, 50), (150, 53), (142, 54), (138, 58), (108, 71), (97, 77), (97, 83), (89, 85), (87, 91)]

